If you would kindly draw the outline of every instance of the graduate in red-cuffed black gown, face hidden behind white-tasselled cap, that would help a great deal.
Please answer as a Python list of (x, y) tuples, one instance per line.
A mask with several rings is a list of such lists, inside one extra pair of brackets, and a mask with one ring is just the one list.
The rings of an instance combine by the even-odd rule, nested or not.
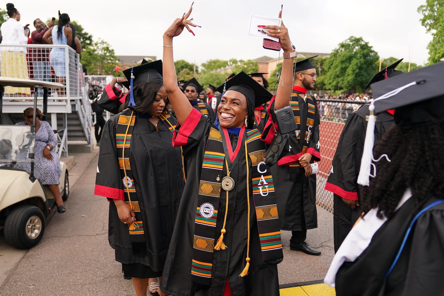
[[(395, 67), (401, 61), (402, 59), (378, 72), (365, 89), (369, 88), (372, 83), (402, 74), (402, 71), (395, 70)], [(357, 177), (364, 149), (365, 131), (367, 129), (366, 116), (369, 115), (369, 105), (370, 103), (366, 103), (347, 118), (333, 157), (329, 178), (325, 184), (325, 190), (333, 192), (335, 252), (337, 252), (342, 241), (344, 241), (362, 213), (359, 206)], [(394, 123), (392, 110), (377, 115), (375, 145)]]

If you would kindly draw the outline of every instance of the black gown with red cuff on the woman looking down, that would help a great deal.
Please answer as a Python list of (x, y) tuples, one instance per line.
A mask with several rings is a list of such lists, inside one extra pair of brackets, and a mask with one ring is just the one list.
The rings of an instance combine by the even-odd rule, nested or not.
[[(122, 199), (115, 143), (119, 114), (103, 128), (96, 174), (95, 194), (108, 199)], [(174, 125), (175, 119), (168, 120)], [(109, 206), (109, 243), (115, 249), (115, 260), (123, 264), (141, 263), (153, 271), (162, 271), (173, 233), (184, 181), (180, 147), (171, 144), (172, 133), (159, 120), (159, 132), (147, 119), (136, 117), (131, 136), (130, 166), (141, 208), (147, 254), (136, 256), (131, 250), (128, 225), (119, 220), (114, 202)]]

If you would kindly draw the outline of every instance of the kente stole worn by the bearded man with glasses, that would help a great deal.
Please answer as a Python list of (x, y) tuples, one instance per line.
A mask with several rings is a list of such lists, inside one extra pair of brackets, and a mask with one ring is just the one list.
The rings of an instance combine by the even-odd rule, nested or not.
[[(308, 144), (310, 142), (310, 138), (311, 138), (311, 134), (313, 131), (313, 124), (314, 124), (314, 115), (315, 115), (315, 103), (313, 101), (313, 99), (311, 98), (311, 96), (307, 95), (307, 121), (305, 122), (305, 135), (304, 136), (304, 141), (301, 142), (301, 111), (299, 110), (299, 101), (298, 98), (299, 95), (297, 92), (293, 92), (291, 94), (291, 99), (290, 99), (290, 107), (293, 109), (293, 115), (294, 115), (294, 119), (296, 120), (297, 123), (297, 127), (299, 128), (296, 131), (296, 138), (298, 140), (298, 142), (300, 143), (302, 152), (305, 153), (307, 152), (308, 149)], [(293, 99), (295, 101), (293, 101)], [(299, 162), (293, 163), (290, 166), (300, 166)]]

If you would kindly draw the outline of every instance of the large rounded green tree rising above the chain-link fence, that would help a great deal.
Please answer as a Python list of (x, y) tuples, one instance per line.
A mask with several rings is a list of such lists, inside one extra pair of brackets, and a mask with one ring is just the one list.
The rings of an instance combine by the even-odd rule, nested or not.
[(361, 92), (376, 73), (378, 60), (377, 52), (362, 37), (349, 37), (325, 60), (325, 87)]

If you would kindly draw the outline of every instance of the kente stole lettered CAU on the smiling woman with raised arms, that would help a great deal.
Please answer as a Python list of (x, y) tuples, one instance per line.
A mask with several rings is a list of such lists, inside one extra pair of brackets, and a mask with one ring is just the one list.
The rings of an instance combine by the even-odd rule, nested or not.
[[(245, 146), (244, 139), (246, 140), (247, 152), (252, 163), (249, 168), (248, 184), (250, 186), (250, 195), (253, 195), (256, 208), (262, 260), (267, 262), (283, 258), (283, 253), (277, 205), (274, 196), (274, 182), (270, 167), (262, 161), (266, 147), (260, 138), (261, 132), (258, 129), (254, 129), (247, 131), (245, 136), (240, 134), (238, 142), (241, 142), (240, 145), (242, 147)], [(227, 144), (231, 145), (229, 140)], [(237, 159), (240, 158), (245, 158), (245, 151), (239, 152)], [(227, 158), (228, 161), (230, 161), (229, 158)], [(220, 233), (216, 233), (217, 217), (218, 215), (225, 215), (225, 213), (218, 212), (218, 207), (221, 194), (224, 197), (226, 196), (226, 191), (221, 188), (222, 178), (227, 175), (226, 170), (222, 135), (216, 126), (212, 126), (202, 162), (201, 180), (198, 187), (199, 195), (194, 224), (193, 259), (191, 264), (191, 281), (193, 284), (205, 286), (210, 286), (211, 284), (215, 239), (220, 235)], [(241, 182), (246, 183), (247, 180), (235, 180), (232, 191), (236, 191), (238, 186), (246, 186), (246, 184)], [(244, 194), (246, 195), (246, 192)], [(228, 195), (230, 197), (230, 191)], [(230, 247), (228, 245), (228, 248)], [(244, 250), (238, 251), (244, 252)], [(218, 252), (229, 251), (221, 249)]]

